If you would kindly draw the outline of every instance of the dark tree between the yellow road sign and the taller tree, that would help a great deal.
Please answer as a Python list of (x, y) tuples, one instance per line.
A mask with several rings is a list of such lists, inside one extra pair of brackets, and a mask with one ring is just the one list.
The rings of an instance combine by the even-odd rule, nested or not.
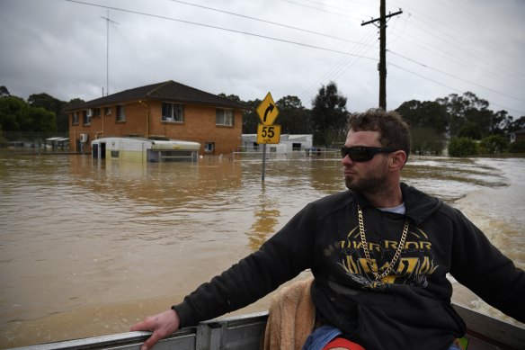
[(280, 124), (282, 134), (311, 134), (313, 132), (311, 113), (297, 96), (282, 97), (277, 103), (279, 116), (275, 123)]

